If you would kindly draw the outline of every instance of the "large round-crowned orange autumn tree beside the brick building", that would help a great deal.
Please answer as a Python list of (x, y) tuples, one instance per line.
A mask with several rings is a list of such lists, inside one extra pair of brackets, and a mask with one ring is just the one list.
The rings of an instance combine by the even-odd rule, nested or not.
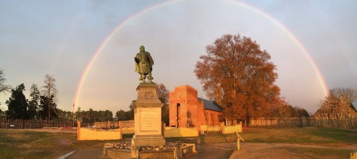
[(271, 56), (245, 36), (223, 35), (206, 47), (194, 72), (207, 96), (228, 119), (271, 116), (280, 89)]

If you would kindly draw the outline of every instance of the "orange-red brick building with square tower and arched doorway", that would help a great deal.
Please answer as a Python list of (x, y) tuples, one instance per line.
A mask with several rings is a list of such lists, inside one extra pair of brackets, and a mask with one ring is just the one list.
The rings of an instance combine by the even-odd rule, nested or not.
[(175, 87), (169, 94), (169, 123), (176, 127), (219, 125), (222, 110), (217, 104), (198, 98), (197, 90), (189, 85)]

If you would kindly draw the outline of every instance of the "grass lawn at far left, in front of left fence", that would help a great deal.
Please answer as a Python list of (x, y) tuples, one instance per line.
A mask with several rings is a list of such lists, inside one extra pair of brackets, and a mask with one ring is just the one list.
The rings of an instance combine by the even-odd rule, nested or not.
[(77, 141), (77, 133), (0, 129), (0, 158), (58, 158), (79, 148), (112, 141)]

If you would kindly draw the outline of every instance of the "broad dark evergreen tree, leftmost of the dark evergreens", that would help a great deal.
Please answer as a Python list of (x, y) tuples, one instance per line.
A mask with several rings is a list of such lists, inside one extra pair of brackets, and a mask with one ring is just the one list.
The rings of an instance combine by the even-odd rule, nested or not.
[(23, 91), (25, 91), (24, 84), (18, 85), (16, 89), (11, 89), (11, 97), (6, 101), (8, 105), (7, 119), (28, 119), (28, 102)]

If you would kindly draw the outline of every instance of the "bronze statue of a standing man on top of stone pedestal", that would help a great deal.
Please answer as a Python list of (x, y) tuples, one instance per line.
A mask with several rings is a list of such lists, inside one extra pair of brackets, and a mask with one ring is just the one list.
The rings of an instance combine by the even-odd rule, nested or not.
[(145, 83), (145, 79), (149, 79), (149, 83), (152, 83), (152, 65), (154, 65), (154, 60), (149, 52), (145, 51), (143, 45), (140, 46), (140, 52), (134, 57), (135, 60), (135, 71), (140, 74), (139, 80)]

